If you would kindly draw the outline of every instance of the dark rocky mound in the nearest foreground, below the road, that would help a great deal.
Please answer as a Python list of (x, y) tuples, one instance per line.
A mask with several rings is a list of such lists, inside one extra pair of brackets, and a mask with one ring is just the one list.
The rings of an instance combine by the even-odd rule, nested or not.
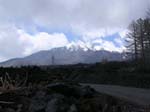
[(89, 86), (52, 83), (0, 94), (0, 112), (149, 112), (149, 108), (100, 94)]

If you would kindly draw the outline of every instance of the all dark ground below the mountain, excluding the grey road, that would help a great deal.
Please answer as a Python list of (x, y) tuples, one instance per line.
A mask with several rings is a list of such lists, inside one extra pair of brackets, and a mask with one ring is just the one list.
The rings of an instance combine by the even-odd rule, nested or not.
[(0, 112), (150, 112), (149, 105), (118, 97), (121, 89), (108, 94), (111, 88), (92, 85), (149, 89), (149, 74), (129, 62), (0, 68)]

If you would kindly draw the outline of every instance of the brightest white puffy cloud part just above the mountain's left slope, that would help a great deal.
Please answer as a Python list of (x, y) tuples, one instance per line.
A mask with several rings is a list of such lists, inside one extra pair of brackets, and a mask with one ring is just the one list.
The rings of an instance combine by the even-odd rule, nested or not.
[(68, 44), (68, 39), (63, 33), (48, 34), (46, 32), (39, 32), (35, 35), (30, 35), (23, 30), (18, 30), (21, 42), (26, 43), (24, 54), (48, 50), (55, 47), (62, 47)]

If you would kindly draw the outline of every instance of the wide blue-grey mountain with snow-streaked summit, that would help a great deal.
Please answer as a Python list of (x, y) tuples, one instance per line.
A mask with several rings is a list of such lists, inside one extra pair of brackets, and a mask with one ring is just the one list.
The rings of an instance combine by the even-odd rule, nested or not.
[(11, 59), (0, 63), (0, 66), (27, 66), (27, 65), (64, 65), (77, 63), (96, 63), (108, 61), (122, 61), (123, 54), (106, 50), (94, 50), (88, 47), (68, 45), (51, 50), (40, 51), (24, 58)]

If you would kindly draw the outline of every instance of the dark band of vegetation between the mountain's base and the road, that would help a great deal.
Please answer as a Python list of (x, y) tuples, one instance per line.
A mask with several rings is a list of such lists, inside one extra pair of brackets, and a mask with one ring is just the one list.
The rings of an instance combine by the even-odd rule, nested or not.
[[(150, 88), (150, 69), (137, 67), (136, 62), (0, 68), (0, 77), (4, 77), (6, 73), (12, 80), (24, 80), (28, 76), (27, 85), (72, 81)], [(16, 78), (18, 75), (19, 78)]]

